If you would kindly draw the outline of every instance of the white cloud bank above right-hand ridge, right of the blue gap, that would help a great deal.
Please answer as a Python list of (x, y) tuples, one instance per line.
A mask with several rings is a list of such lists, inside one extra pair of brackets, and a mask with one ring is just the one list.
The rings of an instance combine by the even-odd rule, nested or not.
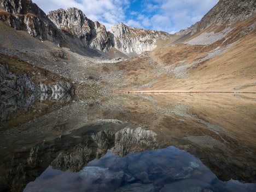
[(174, 33), (200, 21), (219, 0), (154, 0), (157, 5), (146, 5), (144, 11), (157, 8), (150, 18), (155, 30)]

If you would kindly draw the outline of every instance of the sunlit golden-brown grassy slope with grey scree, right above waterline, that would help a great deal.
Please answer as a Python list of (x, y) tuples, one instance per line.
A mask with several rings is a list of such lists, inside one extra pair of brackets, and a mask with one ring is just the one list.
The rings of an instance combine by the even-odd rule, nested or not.
[(255, 24), (254, 14), (229, 27), (211, 25), (126, 62), (128, 90), (256, 92)]

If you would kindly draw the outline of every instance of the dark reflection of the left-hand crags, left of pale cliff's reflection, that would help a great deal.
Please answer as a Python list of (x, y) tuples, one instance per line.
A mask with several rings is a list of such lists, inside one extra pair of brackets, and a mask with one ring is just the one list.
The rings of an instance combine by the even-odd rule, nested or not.
[(88, 132), (89, 127), (62, 135), (51, 142), (43, 142), (22, 153), (1, 162), (8, 171), (5, 179), (10, 189), (22, 191), (26, 184), (34, 181), (48, 167), (62, 171), (80, 171), (95, 158), (101, 158), (114, 145), (114, 134), (108, 130), (96, 134)]

